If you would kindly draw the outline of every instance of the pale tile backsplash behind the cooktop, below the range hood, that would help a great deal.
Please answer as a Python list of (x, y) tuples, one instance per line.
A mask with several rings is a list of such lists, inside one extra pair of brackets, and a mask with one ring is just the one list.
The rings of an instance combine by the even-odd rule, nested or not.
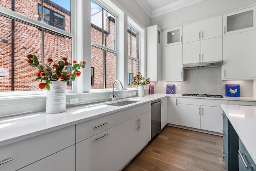
[[(184, 82), (154, 82), (156, 93), (166, 93), (166, 84), (175, 84), (175, 93), (220, 94), (225, 96), (225, 84), (240, 84), (240, 97), (253, 97), (253, 80), (221, 80), (221, 68), (185, 70)], [(181, 89), (178, 90), (178, 86)]]

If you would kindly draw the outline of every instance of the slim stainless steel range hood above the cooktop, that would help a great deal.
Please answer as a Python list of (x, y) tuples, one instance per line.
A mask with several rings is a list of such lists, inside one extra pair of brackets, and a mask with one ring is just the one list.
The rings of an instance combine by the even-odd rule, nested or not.
[(213, 68), (213, 67), (221, 67), (222, 61), (212, 61), (212, 62), (198, 62), (192, 64), (183, 64), (183, 69), (191, 70), (196, 68)]

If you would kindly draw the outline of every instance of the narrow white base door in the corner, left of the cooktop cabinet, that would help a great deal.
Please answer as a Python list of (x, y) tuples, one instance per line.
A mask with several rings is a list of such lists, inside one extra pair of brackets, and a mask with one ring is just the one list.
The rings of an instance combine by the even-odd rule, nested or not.
[(168, 97), (168, 123), (178, 125), (178, 97)]

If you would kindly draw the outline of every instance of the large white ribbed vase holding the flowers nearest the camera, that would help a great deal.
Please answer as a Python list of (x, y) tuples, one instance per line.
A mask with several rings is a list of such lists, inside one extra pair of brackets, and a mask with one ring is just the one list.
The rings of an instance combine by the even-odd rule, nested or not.
[(46, 95), (46, 113), (66, 111), (66, 82), (53, 81)]

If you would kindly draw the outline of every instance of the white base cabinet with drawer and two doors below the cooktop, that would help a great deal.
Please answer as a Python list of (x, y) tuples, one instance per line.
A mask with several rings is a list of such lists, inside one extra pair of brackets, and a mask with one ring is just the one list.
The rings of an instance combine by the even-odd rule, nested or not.
[(221, 133), (220, 104), (228, 104), (228, 101), (179, 97), (178, 125)]

